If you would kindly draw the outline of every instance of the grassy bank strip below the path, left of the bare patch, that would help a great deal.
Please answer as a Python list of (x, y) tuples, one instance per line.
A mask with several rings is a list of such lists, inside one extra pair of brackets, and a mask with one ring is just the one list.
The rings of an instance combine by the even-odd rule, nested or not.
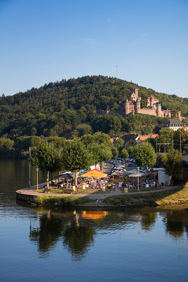
[(88, 197), (58, 197), (58, 196), (47, 196), (47, 195), (37, 195), (34, 196), (34, 202), (37, 205), (51, 205), (51, 206), (77, 206), (84, 203), (88, 203), (91, 200)]

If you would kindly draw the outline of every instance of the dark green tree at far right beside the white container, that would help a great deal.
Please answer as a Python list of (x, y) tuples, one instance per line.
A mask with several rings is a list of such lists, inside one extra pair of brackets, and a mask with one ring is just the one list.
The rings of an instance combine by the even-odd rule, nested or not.
[(172, 150), (163, 158), (166, 174), (174, 179), (182, 173), (182, 155), (178, 150)]

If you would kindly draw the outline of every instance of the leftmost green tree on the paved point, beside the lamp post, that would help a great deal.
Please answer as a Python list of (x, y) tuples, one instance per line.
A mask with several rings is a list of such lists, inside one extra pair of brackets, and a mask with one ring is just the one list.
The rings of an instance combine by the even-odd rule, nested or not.
[(46, 186), (49, 188), (48, 171), (53, 173), (62, 167), (62, 151), (53, 143), (42, 142), (36, 147), (36, 152), (30, 158), (31, 166), (37, 166), (46, 175)]

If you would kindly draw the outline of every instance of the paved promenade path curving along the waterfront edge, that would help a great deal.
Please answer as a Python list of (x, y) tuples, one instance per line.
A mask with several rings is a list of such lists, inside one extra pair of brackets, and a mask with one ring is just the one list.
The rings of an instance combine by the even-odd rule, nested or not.
[[(38, 185), (38, 188), (43, 188), (43, 186), (45, 185), (46, 183), (41, 183)], [(154, 191), (144, 191), (144, 189), (141, 189), (141, 191), (139, 192), (128, 192), (128, 193), (122, 193), (122, 190), (121, 191), (112, 191), (110, 192), (109, 194), (54, 194), (54, 193), (48, 193), (45, 195), (48, 195), (48, 196), (59, 196), (59, 197), (84, 197), (84, 196), (87, 196), (89, 199), (92, 199), (92, 200), (103, 200), (107, 197), (110, 197), (110, 196), (113, 196), (113, 195), (134, 195), (134, 194), (144, 194), (144, 193), (155, 193), (155, 192), (159, 192), (159, 191), (166, 191), (166, 190), (172, 190), (172, 189), (175, 189), (175, 188), (179, 188), (179, 187), (187, 187), (188, 186), (188, 183), (183, 183), (183, 184), (180, 184), (180, 185), (177, 185), (177, 186), (170, 186), (170, 187), (166, 187), (164, 189), (159, 189), (159, 190), (154, 190)], [(25, 194), (25, 195), (44, 195), (44, 193), (39, 193), (39, 192), (35, 192), (33, 191), (34, 189), (37, 189), (37, 186), (32, 186), (30, 188), (25, 188), (25, 189), (22, 189), (22, 190), (18, 190), (16, 192), (19, 192), (21, 191), (22, 194)]]

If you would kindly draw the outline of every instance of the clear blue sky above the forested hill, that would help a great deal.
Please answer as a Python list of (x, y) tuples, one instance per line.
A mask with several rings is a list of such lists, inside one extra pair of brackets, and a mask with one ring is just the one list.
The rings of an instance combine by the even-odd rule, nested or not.
[(82, 75), (188, 97), (188, 1), (0, 0), (0, 95)]

